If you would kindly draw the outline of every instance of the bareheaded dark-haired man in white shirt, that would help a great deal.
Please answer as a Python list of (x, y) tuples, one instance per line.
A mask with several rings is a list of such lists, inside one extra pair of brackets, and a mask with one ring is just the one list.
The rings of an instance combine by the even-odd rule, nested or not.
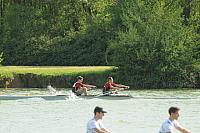
[(159, 133), (174, 133), (173, 129), (176, 128), (181, 133), (191, 133), (187, 129), (183, 128), (178, 123), (178, 117), (179, 117), (179, 111), (180, 109), (178, 107), (170, 107), (169, 112), (169, 118), (165, 120), (160, 128)]

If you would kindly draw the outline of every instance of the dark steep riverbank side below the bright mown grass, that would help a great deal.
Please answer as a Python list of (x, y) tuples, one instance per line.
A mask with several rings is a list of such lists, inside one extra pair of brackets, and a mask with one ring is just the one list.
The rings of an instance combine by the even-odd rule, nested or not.
[(77, 76), (80, 75), (84, 77), (84, 83), (94, 84), (98, 88), (102, 88), (107, 77), (114, 76), (115, 72), (116, 67), (86, 72), (76, 71), (74, 73), (66, 71), (66, 73), (61, 72), (60, 74), (53, 74), (50, 71), (43, 74), (32, 71), (26, 71), (25, 73), (2, 72), (0, 73), (0, 88), (46, 88), (47, 85), (56, 88), (71, 88)]

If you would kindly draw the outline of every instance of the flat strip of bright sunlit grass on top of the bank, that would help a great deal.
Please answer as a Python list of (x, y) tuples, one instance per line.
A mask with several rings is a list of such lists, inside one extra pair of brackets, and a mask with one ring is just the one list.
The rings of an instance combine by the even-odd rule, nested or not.
[(0, 66), (0, 78), (32, 73), (42, 76), (101, 74), (116, 69), (113, 66)]

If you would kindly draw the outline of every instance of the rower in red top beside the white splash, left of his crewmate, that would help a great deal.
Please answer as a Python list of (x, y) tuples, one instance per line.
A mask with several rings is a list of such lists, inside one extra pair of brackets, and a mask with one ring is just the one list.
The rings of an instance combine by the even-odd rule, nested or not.
[(83, 77), (78, 76), (76, 83), (74, 83), (73, 85), (72, 92), (77, 96), (80, 96), (82, 93), (84, 93), (84, 95), (87, 96), (88, 90), (90, 90), (91, 88), (96, 88), (96, 86), (83, 84)]

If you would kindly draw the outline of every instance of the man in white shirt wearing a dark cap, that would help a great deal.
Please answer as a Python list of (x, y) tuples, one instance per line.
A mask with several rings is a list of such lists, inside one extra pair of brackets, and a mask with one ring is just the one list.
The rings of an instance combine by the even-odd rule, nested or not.
[(94, 109), (94, 118), (88, 121), (87, 123), (87, 132), (86, 133), (111, 133), (105, 129), (102, 118), (104, 113), (107, 113), (103, 108), (96, 106)]

